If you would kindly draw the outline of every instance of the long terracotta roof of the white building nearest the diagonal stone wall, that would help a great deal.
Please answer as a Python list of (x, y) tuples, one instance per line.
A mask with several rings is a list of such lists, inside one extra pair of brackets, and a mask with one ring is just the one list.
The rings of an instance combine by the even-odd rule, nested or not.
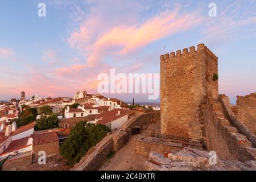
[[(118, 115), (118, 111), (120, 111), (120, 114)], [(101, 118), (101, 120), (98, 120), (98, 123), (105, 125), (109, 122), (115, 121), (118, 118), (121, 118), (125, 115), (129, 115), (134, 113), (134, 111), (126, 110), (126, 109), (113, 109), (106, 113), (99, 114), (97, 118)]]

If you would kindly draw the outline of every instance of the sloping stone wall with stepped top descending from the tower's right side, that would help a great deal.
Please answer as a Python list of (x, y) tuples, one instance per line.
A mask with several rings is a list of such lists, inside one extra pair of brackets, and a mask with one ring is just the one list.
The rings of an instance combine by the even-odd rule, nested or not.
[(221, 102), (208, 98), (204, 110), (205, 140), (209, 151), (226, 160), (254, 160), (256, 150), (247, 138), (233, 127)]

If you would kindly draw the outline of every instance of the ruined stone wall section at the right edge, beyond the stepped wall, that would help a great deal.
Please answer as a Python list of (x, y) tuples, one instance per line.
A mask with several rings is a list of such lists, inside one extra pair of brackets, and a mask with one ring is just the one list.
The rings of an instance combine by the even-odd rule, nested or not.
[(236, 117), (256, 135), (256, 93), (245, 97), (237, 96), (237, 105), (233, 107)]

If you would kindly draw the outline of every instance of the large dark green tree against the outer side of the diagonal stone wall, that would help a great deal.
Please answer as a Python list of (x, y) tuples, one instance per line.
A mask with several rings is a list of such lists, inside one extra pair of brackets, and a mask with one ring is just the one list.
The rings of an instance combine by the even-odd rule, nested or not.
[(108, 132), (110, 132), (108, 126), (81, 121), (71, 129), (67, 140), (60, 146), (60, 154), (67, 159), (67, 164), (72, 166), (78, 163), (86, 152), (100, 142)]

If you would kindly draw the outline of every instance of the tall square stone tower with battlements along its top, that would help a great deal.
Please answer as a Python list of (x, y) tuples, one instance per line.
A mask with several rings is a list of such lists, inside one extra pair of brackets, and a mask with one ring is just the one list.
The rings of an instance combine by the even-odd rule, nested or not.
[(202, 139), (201, 104), (218, 98), (218, 57), (204, 44), (160, 56), (161, 133)]

